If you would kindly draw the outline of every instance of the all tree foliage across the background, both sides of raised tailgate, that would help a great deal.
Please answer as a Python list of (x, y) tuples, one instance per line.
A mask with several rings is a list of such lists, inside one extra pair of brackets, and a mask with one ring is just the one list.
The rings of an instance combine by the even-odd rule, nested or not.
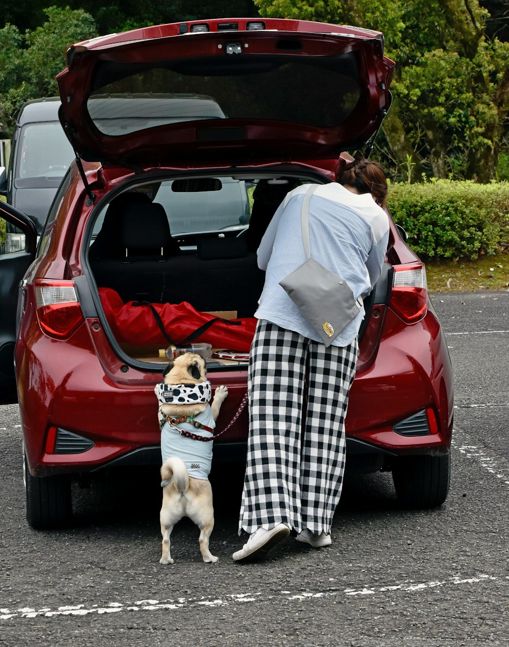
[[(490, 17), (480, 4), (488, 5)], [(209, 17), (288, 17), (385, 35), (395, 100), (375, 155), (393, 177), (495, 177), (508, 157), (506, 0), (17, 0), (0, 29), (0, 136), (25, 100), (55, 94), (65, 50), (97, 34)], [(81, 8), (86, 8), (83, 10)], [(410, 175), (411, 173), (411, 175)]]

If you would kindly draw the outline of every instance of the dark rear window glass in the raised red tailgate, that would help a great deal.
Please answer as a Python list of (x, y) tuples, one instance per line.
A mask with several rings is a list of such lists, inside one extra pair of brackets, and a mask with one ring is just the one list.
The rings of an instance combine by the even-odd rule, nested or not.
[(351, 54), (255, 55), (239, 58), (233, 67), (229, 57), (193, 58), (129, 69), (125, 76), (124, 65), (103, 62), (96, 74), (87, 109), (107, 135), (222, 116), (337, 126), (362, 95)]

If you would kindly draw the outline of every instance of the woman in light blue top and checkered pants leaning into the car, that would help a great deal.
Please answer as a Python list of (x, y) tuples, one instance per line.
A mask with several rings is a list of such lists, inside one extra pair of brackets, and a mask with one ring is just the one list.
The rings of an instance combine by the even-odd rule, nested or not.
[[(306, 257), (301, 206), (309, 185), (290, 193), (258, 248), (266, 270), (250, 353), (250, 435), (236, 562), (264, 558), (290, 531), (314, 548), (331, 543), (345, 466), (345, 415), (364, 309), (325, 347), (279, 285)], [(387, 181), (358, 160), (340, 182), (317, 185), (309, 203), (311, 257), (347, 281), (354, 298), (378, 280), (389, 237)], [(305, 392), (306, 389), (306, 392)]]

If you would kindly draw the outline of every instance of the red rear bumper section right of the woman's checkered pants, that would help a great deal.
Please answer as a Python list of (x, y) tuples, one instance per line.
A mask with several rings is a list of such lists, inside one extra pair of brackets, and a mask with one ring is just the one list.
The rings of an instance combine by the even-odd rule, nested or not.
[[(432, 433), (395, 432), (418, 411), (434, 418)], [(428, 311), (421, 322), (404, 325), (388, 309), (376, 359), (357, 373), (351, 389), (347, 437), (396, 455), (444, 454), (452, 423), (453, 371), (437, 318)]]

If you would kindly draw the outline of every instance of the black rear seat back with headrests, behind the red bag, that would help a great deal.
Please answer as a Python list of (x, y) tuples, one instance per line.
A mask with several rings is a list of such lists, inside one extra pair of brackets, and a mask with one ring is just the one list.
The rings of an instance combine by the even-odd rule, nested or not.
[(196, 254), (182, 254), (160, 210), (156, 204), (126, 208), (118, 232), (122, 257), (90, 258), (98, 287), (112, 288), (124, 303), (187, 301), (199, 311), (253, 316), (265, 272), (244, 239), (206, 236)]

